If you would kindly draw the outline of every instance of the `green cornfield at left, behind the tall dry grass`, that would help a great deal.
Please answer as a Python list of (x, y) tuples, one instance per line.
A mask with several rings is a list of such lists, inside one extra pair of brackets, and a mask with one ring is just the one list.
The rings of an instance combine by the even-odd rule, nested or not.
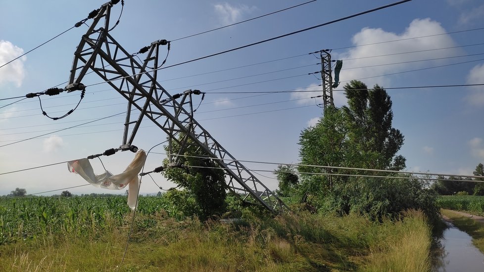
[[(140, 196), (137, 213), (179, 212), (164, 197)], [(0, 198), (0, 245), (18, 239), (62, 233), (76, 236), (101, 233), (127, 224), (131, 210), (126, 196), (2, 197)]]

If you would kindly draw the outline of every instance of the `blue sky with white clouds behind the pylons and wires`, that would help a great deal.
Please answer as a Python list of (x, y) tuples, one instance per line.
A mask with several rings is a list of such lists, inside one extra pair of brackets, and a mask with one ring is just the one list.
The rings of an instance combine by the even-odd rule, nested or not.
[[(303, 2), (125, 0), (120, 23), (110, 35), (134, 53), (156, 40), (173, 41)], [(273, 38), (390, 2), (313, 1), (174, 41), (166, 65)], [(0, 66), (71, 28), (103, 3), (99, 0), (0, 0)], [(112, 9), (111, 22), (116, 21), (120, 11), (121, 3), (118, 3)], [(484, 2), (481, 0), (413, 0), (164, 69), (159, 72), (158, 81), (171, 94), (188, 89), (207, 92), (194, 118), (237, 159), (297, 163), (300, 132), (322, 116), (322, 108), (317, 106), (321, 100), (310, 97), (321, 93), (254, 96), (234, 92), (320, 90), (320, 76), (308, 73), (321, 70), (318, 55), (309, 54), (321, 49), (332, 49), (332, 59), (343, 60), (341, 84), (334, 91), (336, 106), (346, 104), (342, 86), (353, 79), (363, 81), (368, 87), (379, 84), (383, 88), (484, 84), (482, 18)], [(1, 67), (0, 99), (44, 91), (67, 81), (73, 53), (87, 29), (86, 25), (74, 28)], [(101, 79), (94, 74), (83, 80), (86, 85), (99, 82)], [(213, 93), (221, 91), (228, 93)], [(393, 127), (405, 136), (399, 154), (407, 159), (406, 170), (472, 175), (477, 164), (484, 163), (483, 86), (387, 91), (393, 102)], [(79, 92), (41, 98), (49, 115), (60, 116), (75, 106)], [(0, 145), (48, 135), (1, 146), (0, 174), (85, 158), (122, 143), (123, 115), (55, 132), (125, 111), (127, 101), (105, 83), (88, 87), (78, 109), (56, 121), (42, 115), (37, 98), (5, 106), (14, 101), (0, 100)], [(198, 102), (194, 100), (195, 104)], [(165, 138), (160, 129), (144, 122), (133, 144), (149, 150)], [(163, 146), (152, 152), (163, 153)], [(161, 165), (165, 155), (156, 153), (148, 155), (145, 169)], [(107, 170), (116, 174), (133, 158), (134, 154), (127, 151), (103, 156), (101, 160)], [(99, 160), (92, 160), (92, 164), (96, 173), (104, 172)], [(243, 164), (252, 170), (276, 168), (270, 164)], [(272, 173), (255, 173), (270, 189), (277, 187)], [(163, 188), (173, 185), (159, 174), (153, 178)], [(0, 195), (16, 187), (35, 193), (85, 183), (81, 177), (69, 173), (65, 163), (0, 175)], [(141, 193), (159, 190), (150, 179), (142, 180)], [(94, 186), (69, 191), (123, 193)]]

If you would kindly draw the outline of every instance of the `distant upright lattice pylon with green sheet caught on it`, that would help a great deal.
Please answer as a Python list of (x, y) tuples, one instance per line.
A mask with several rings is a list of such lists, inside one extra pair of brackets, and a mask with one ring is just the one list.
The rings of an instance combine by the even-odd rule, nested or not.
[[(323, 110), (326, 111), (328, 106), (335, 106), (333, 88), (339, 85), (339, 71), (343, 62), (341, 60), (331, 60), (331, 49), (323, 49), (319, 52), (321, 55), (321, 81), (323, 82)], [(333, 82), (331, 62), (335, 61), (335, 82)]]

